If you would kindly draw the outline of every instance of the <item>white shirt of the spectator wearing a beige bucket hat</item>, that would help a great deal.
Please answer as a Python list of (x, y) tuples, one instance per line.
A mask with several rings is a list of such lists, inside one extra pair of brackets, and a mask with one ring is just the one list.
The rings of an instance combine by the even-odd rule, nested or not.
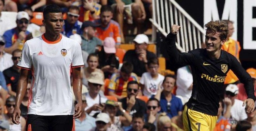
[[(98, 94), (95, 99), (93, 99), (89, 93), (86, 93), (86, 101), (87, 101), (87, 107), (85, 107), (85, 111), (92, 107), (94, 104), (100, 104), (100, 103), (106, 103), (107, 98), (106, 96), (102, 95), (102, 94)], [(101, 111), (91, 111), (91, 113), (89, 114), (90, 116), (93, 116), (95, 113), (101, 113)]]

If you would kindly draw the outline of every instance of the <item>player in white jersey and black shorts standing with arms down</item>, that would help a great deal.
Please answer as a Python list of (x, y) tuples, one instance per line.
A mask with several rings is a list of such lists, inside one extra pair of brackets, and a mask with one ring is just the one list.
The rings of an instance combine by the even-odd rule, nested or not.
[[(24, 44), (17, 64), (21, 68), (21, 76), (12, 122), (20, 124), (19, 107), (31, 70), (33, 78), (26, 131), (73, 131), (74, 119), (80, 117), (82, 109), (80, 67), (84, 63), (81, 46), (61, 35), (63, 16), (57, 5), (48, 5), (43, 11), (43, 18), (45, 34)], [(73, 91), (78, 102), (76, 106), (71, 92), (71, 71)]]

